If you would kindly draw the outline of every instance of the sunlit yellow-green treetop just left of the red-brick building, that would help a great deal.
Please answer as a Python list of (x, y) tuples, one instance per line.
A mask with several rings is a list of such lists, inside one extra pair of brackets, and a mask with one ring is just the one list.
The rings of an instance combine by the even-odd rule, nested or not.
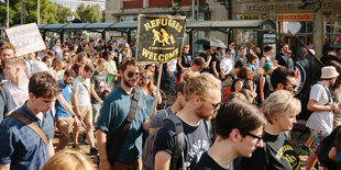
[(102, 12), (100, 11), (100, 7), (98, 4), (85, 7), (85, 4), (81, 3), (77, 8), (76, 13), (82, 23), (102, 22)]

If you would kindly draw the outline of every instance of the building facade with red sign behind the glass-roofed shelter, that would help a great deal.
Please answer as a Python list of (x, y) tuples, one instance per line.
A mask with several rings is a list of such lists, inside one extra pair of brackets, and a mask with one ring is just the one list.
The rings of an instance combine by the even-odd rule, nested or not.
[[(318, 57), (327, 42), (341, 48), (341, 0), (231, 0), (227, 8), (212, 0), (204, 2), (206, 8), (195, 7), (197, 20), (271, 19), (277, 26), (277, 45), (295, 48), (297, 35), (315, 45)], [(175, 13), (191, 20), (191, 0), (107, 0), (106, 8), (107, 22), (136, 21), (140, 13)], [(237, 30), (232, 37), (238, 45), (255, 44), (257, 38), (256, 31), (249, 30)]]

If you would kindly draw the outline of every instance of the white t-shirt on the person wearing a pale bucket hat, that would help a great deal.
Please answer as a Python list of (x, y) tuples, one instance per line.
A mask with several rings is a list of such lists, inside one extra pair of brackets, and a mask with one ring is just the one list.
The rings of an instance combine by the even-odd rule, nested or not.
[[(311, 88), (309, 100), (317, 101), (318, 105), (326, 105), (329, 97), (322, 84), (315, 84)], [(332, 101), (332, 99), (331, 99)], [(324, 133), (332, 132), (333, 113), (329, 111), (314, 112), (306, 124), (307, 127)]]

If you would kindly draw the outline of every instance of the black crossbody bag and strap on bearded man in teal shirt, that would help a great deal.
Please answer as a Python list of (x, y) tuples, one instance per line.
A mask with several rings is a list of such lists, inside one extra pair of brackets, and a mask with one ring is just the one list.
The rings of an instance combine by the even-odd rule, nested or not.
[[(130, 104), (130, 110), (128, 116), (123, 123), (112, 133), (107, 136), (107, 155), (108, 160), (111, 166), (113, 166), (117, 157), (119, 156), (123, 143), (127, 138), (128, 129), (130, 128), (131, 123), (135, 118), (135, 113), (139, 104), (140, 88), (136, 87), (133, 89), (133, 97)], [(109, 144), (111, 143), (111, 144)]]

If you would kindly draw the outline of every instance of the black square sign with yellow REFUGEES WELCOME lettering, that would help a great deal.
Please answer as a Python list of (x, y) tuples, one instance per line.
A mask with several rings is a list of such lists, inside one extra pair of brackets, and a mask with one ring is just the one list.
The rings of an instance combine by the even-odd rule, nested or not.
[(185, 16), (139, 15), (136, 63), (178, 59), (185, 43)]

